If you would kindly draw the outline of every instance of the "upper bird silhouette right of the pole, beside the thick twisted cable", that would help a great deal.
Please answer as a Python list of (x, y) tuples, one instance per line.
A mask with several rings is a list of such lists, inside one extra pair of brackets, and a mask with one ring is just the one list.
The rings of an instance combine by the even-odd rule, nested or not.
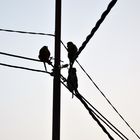
[(72, 65), (75, 61), (74, 57), (77, 53), (77, 47), (72, 42), (68, 42), (67, 43), (67, 48), (68, 48), (68, 58), (69, 58), (70, 67), (72, 67)]

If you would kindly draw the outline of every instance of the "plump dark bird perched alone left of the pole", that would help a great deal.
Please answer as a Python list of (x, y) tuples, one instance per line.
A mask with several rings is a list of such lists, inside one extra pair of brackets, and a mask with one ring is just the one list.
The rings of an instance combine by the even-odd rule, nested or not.
[(45, 62), (48, 63), (49, 65), (52, 64), (50, 61), (50, 51), (48, 50), (47, 46), (43, 46), (40, 49), (38, 57), (39, 57), (40, 61), (42, 61), (44, 63), (45, 70), (47, 71)]

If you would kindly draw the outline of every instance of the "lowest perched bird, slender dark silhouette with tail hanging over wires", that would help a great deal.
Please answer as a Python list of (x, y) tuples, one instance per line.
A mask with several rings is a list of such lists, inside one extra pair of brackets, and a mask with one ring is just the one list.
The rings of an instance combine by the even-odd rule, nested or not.
[[(71, 92), (77, 93), (78, 88), (78, 78), (76, 74), (76, 68), (70, 68), (68, 71), (67, 86)], [(73, 98), (72, 94), (72, 98)]]

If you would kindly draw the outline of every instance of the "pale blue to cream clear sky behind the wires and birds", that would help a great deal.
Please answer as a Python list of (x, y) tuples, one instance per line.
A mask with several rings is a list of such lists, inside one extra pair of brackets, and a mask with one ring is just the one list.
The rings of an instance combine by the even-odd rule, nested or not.
[[(61, 39), (79, 48), (110, 0), (62, 0)], [(140, 135), (140, 1), (118, 0), (78, 57), (94, 82)], [(0, 28), (55, 32), (54, 0), (0, 0)], [(38, 59), (47, 45), (54, 56), (54, 38), (0, 32), (0, 52)], [(61, 47), (62, 64), (68, 63)], [(40, 62), (0, 54), (0, 63), (44, 70)], [(75, 63), (78, 90), (130, 140), (138, 140)], [(51, 67), (47, 66), (48, 71)], [(67, 69), (62, 69), (67, 77)], [(0, 65), (0, 139), (51, 140), (53, 77)], [(61, 87), (61, 140), (108, 140), (107, 135), (71, 93)], [(107, 127), (106, 127), (107, 128)], [(115, 138), (119, 137), (107, 130)]]

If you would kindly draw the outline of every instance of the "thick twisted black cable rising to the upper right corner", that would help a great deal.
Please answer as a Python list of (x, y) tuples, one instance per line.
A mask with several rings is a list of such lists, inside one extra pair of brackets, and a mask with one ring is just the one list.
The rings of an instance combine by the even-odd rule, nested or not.
[(87, 43), (89, 42), (89, 40), (93, 37), (93, 35), (95, 34), (95, 32), (98, 30), (98, 28), (100, 27), (101, 23), (104, 21), (104, 19), (106, 18), (106, 16), (109, 14), (109, 12), (111, 11), (111, 9), (113, 8), (113, 6), (116, 4), (117, 0), (112, 0), (107, 9), (103, 12), (103, 14), (101, 15), (101, 18), (96, 22), (95, 27), (91, 30), (90, 34), (87, 36), (86, 40), (82, 43), (82, 46), (79, 48), (78, 53), (76, 54), (75, 58), (77, 58), (79, 56), (79, 54), (82, 52), (82, 50), (86, 47)]

